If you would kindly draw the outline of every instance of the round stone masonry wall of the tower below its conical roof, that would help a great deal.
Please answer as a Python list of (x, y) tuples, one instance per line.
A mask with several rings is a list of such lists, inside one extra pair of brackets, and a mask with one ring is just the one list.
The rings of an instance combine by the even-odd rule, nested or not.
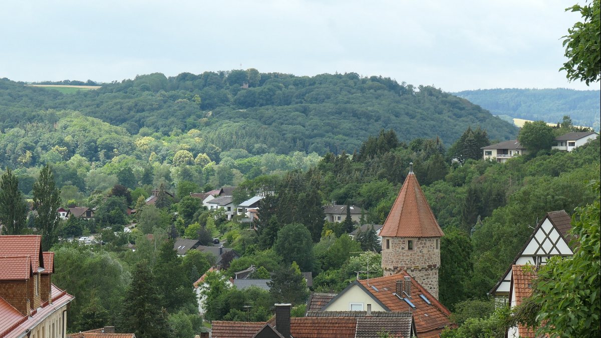
[[(407, 247), (413, 241), (413, 249)], [(382, 237), (384, 275), (407, 271), (438, 299), (438, 269), (441, 266), (440, 238)]]

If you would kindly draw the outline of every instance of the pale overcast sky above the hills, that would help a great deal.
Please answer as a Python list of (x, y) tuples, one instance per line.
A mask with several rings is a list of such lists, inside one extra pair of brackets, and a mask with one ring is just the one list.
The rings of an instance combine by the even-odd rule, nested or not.
[(561, 37), (580, 19), (564, 9), (575, 2), (3, 0), (0, 78), (109, 82), (256, 68), (382, 75), (445, 91), (599, 89), (558, 72)]

